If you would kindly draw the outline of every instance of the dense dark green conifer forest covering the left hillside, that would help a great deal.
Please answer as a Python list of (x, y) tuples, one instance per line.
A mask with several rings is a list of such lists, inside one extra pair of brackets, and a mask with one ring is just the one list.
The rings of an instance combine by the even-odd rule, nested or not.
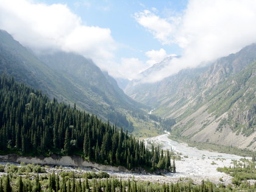
[(176, 171), (169, 152), (146, 148), (143, 141), (97, 116), (50, 100), (40, 90), (1, 76), (0, 153), (81, 155), (107, 165)]

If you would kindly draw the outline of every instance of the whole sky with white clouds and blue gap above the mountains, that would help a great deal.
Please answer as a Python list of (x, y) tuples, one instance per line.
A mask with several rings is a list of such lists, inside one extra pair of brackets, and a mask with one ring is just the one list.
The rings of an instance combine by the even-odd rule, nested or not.
[[(256, 43), (255, 0), (0, 0), (0, 29), (37, 52), (77, 52), (113, 77), (162, 80)], [(160, 71), (140, 73), (169, 56)]]

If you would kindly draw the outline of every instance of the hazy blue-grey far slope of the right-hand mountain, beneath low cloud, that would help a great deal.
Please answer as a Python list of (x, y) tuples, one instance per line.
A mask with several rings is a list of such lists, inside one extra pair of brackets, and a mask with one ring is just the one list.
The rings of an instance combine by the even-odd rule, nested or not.
[[(176, 101), (177, 98), (182, 98), (186, 92), (188, 94), (196, 93), (199, 90), (199, 85), (197, 85), (197, 82), (193, 82), (193, 80), (199, 78), (199, 75), (204, 71), (205, 68), (184, 69), (175, 76), (168, 77), (154, 84), (141, 84), (140, 82), (133, 81), (127, 85), (124, 91), (136, 101), (158, 108), (168, 104), (168, 102)], [(183, 92), (184, 90), (186, 92)], [(177, 103), (177, 107), (180, 107), (180, 102), (183, 102), (183, 99)], [(167, 116), (166, 112), (160, 113), (160, 115)]]

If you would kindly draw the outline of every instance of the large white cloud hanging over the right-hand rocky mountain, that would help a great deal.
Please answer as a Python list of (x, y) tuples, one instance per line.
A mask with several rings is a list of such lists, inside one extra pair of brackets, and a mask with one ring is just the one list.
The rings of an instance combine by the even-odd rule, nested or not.
[[(162, 44), (175, 43), (183, 48), (180, 59), (150, 74), (144, 82), (155, 82), (184, 68), (239, 51), (256, 42), (256, 1), (188, 1), (183, 15), (160, 18), (149, 10), (136, 13), (135, 19)], [(158, 23), (158, 24), (155, 24)]]

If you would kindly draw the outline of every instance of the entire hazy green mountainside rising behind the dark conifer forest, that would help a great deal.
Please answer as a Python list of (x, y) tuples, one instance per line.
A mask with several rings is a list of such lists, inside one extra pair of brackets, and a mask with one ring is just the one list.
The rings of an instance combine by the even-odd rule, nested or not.
[(134, 118), (127, 114), (149, 110), (130, 99), (115, 80), (102, 73), (91, 60), (81, 55), (55, 52), (35, 55), (0, 30), (0, 74), (37, 88), (50, 98), (94, 113), (107, 121), (132, 131)]

